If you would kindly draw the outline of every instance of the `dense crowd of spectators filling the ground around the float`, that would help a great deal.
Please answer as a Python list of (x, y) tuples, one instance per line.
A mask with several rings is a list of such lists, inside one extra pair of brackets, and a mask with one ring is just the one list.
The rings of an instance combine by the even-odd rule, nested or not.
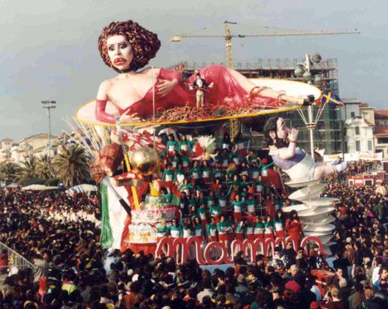
[[(237, 156), (241, 162), (235, 164), (237, 170), (231, 178), (226, 175), (228, 168), (222, 170), (218, 190), (238, 189), (235, 196), (244, 192), (244, 186), (236, 186), (244, 177), (243, 162), (249, 155)], [(166, 160), (168, 165), (168, 154)], [(231, 163), (236, 162), (231, 159), (228, 167)], [(374, 163), (352, 163), (343, 175), (362, 172), (371, 165)], [(276, 249), (276, 255), (288, 257), (283, 268), (264, 255), (248, 263), (244, 252), (237, 252), (234, 266), (221, 270), (202, 268), (196, 261), (177, 265), (171, 257), (155, 259), (143, 252), (106, 250), (99, 243), (100, 214), (93, 199), (55, 191), (1, 191), (0, 241), (34, 264), (33, 270), (13, 271), (6, 277), (0, 287), (1, 308), (387, 308), (387, 199), (372, 186), (345, 186), (342, 176), (328, 179), (324, 192), (340, 199), (333, 214), (335, 259), (329, 263), (316, 247), (306, 252), (287, 243)], [(188, 180), (186, 185), (195, 186), (195, 194), (217, 193), (212, 188), (217, 181), (206, 183), (203, 174), (198, 181)], [(253, 188), (253, 183), (248, 187)], [(266, 189), (260, 195), (265, 197), (256, 195), (258, 203), (267, 195), (280, 199), (284, 193), (271, 184), (263, 187)], [(166, 190), (164, 195), (173, 195), (178, 188), (171, 186), (171, 193)], [(269, 212), (267, 205), (264, 208)], [(184, 208), (182, 213), (191, 219)], [(233, 221), (233, 212), (231, 215)], [(260, 215), (256, 208), (255, 217)], [(326, 286), (316, 281), (312, 270), (332, 271)]]

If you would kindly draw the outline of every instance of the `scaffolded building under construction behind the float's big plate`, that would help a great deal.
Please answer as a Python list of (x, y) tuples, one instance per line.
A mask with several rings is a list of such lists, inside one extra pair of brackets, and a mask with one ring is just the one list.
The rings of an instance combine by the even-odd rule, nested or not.
[[(300, 61), (298, 59), (258, 59), (255, 63), (235, 63), (234, 68), (245, 77), (249, 78), (271, 78), (271, 79), (289, 79), (294, 81), (304, 81), (303, 78), (295, 77), (293, 72)], [(180, 70), (184, 78), (193, 74), (194, 70), (210, 66), (211, 64), (224, 63), (200, 63), (200, 62), (181, 62), (171, 69)], [(331, 90), (339, 95), (338, 89), (338, 70), (337, 59), (322, 60), (320, 63), (314, 63), (310, 70), (315, 76), (313, 83), (320, 90)], [(304, 114), (307, 114), (307, 108), (304, 108)], [(318, 108), (314, 108), (314, 114)], [(299, 144), (305, 150), (310, 149), (309, 131), (304, 125), (298, 112), (284, 112), (282, 117), (287, 119), (289, 126), (299, 129)], [(314, 116), (315, 117), (315, 116)], [(240, 128), (243, 132), (249, 131), (249, 128)], [(252, 146), (262, 148), (262, 132), (254, 135)], [(343, 128), (341, 121), (341, 110), (336, 106), (327, 105), (320, 117), (320, 121), (314, 130), (314, 147), (325, 149), (325, 154), (336, 154), (342, 152)]]

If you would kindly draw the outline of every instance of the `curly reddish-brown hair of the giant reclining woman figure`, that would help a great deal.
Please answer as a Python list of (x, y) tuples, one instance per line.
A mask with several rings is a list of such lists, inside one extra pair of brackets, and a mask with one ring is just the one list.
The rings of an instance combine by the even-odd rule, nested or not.
[(130, 70), (139, 70), (147, 65), (147, 63), (155, 57), (160, 48), (160, 41), (157, 39), (157, 34), (146, 30), (138, 23), (133, 21), (114, 21), (108, 26), (104, 27), (98, 38), (98, 49), (102, 60), (107, 66), (113, 70), (120, 72), (108, 56), (108, 46), (106, 40), (113, 35), (124, 35), (129, 41), (133, 50), (133, 60), (130, 63)]

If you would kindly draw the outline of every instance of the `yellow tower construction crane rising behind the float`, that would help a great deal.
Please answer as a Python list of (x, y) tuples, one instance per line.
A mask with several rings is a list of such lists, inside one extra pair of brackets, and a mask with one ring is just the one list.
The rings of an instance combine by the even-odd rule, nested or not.
[[(318, 35), (335, 35), (335, 34), (360, 34), (357, 29), (354, 30), (339, 30), (339, 31), (318, 31), (318, 32), (308, 32), (302, 30), (290, 30), (290, 29), (278, 29), (279, 32), (273, 33), (264, 33), (264, 34), (232, 34), (231, 28), (229, 25), (237, 25), (232, 21), (224, 21), (224, 32), (225, 34), (177, 34), (171, 37), (171, 42), (182, 41), (182, 38), (217, 38), (221, 37), (225, 40), (226, 47), (226, 66), (233, 69), (233, 50), (232, 50), (232, 39), (233, 38), (251, 38), (251, 37), (298, 37), (298, 36), (318, 36)], [(264, 27), (266, 29), (276, 29), (271, 27)], [(206, 29), (206, 28), (202, 28)], [(293, 31), (293, 32), (291, 32)], [(238, 121), (237, 119), (231, 119), (230, 121), (230, 135), (231, 139), (235, 137), (238, 132)]]

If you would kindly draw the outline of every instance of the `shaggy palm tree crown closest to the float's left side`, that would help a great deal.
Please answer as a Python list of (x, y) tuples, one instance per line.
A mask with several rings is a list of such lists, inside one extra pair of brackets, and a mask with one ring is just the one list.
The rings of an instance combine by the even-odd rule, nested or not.
[(62, 179), (66, 187), (72, 187), (90, 179), (90, 159), (84, 148), (77, 145), (64, 148), (52, 160), (55, 176)]

